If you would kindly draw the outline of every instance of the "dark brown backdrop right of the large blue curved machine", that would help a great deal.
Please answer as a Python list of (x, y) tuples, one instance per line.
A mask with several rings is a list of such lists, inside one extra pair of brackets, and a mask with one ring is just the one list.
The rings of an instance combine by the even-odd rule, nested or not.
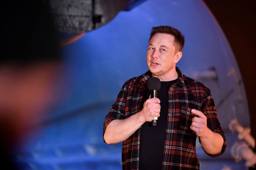
[[(256, 139), (256, 1), (204, 0), (224, 31), (240, 68), (248, 99), (251, 134)], [(239, 120), (238, 120), (239, 121)]]

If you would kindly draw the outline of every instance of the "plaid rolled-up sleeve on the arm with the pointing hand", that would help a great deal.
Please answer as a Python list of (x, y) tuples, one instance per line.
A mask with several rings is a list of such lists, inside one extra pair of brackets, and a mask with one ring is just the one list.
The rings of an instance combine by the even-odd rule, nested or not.
[[(205, 97), (202, 102), (201, 111), (207, 117), (207, 127), (209, 129), (211, 129), (213, 132), (220, 134), (224, 140), (222, 150), (219, 154), (214, 155), (214, 154), (209, 154), (205, 151), (204, 152), (211, 157), (219, 157), (220, 155), (222, 155), (224, 153), (224, 151), (227, 147), (227, 140), (226, 140), (226, 135), (220, 126), (220, 121), (218, 120), (216, 107), (215, 107), (214, 101), (212, 99), (210, 89), (208, 89), (208, 88), (206, 89), (206, 92), (205, 92)], [(199, 137), (199, 142), (201, 143), (200, 137)]]

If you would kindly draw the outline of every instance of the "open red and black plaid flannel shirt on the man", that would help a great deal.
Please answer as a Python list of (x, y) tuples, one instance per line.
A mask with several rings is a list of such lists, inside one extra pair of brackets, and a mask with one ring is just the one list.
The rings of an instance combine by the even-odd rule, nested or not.
[[(207, 117), (207, 127), (213, 132), (219, 133), (224, 139), (220, 154), (206, 154), (211, 157), (222, 155), (227, 146), (226, 136), (217, 119), (210, 89), (183, 75), (178, 67), (176, 67), (176, 71), (179, 78), (168, 91), (168, 118), (162, 169), (199, 169), (196, 155), (196, 134), (190, 129), (191, 119), (194, 117), (191, 114), (191, 109), (203, 112)], [(103, 135), (112, 120), (126, 119), (140, 112), (143, 95), (148, 90), (147, 80), (151, 76), (151, 72), (148, 71), (124, 83), (115, 104), (106, 116)], [(139, 169), (140, 129), (141, 127), (123, 141), (123, 169)]]

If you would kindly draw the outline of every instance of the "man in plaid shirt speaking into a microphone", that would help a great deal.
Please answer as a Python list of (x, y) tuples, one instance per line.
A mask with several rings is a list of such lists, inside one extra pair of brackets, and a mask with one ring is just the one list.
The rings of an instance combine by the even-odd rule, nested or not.
[[(184, 42), (173, 27), (153, 27), (149, 71), (124, 83), (106, 116), (103, 138), (108, 144), (123, 141), (123, 169), (199, 169), (196, 136), (211, 157), (226, 149), (210, 89), (176, 67)], [(151, 77), (161, 81), (154, 98), (147, 86)], [(155, 117), (157, 125), (152, 126)]]

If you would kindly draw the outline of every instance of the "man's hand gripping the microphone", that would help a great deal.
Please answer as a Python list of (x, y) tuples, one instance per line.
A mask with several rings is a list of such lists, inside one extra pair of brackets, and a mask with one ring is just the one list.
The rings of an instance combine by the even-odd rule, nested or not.
[[(144, 121), (152, 121), (155, 117), (160, 116), (160, 100), (158, 98), (150, 98), (146, 100), (143, 104), (143, 109), (141, 110), (141, 118)], [(142, 120), (143, 121), (143, 120)]]

